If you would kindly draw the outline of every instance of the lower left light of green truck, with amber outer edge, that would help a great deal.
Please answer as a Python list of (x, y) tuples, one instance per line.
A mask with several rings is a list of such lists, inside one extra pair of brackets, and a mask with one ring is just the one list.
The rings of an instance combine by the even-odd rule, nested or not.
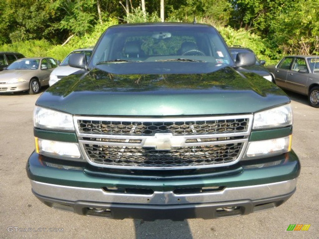
[(36, 152), (46, 156), (57, 156), (59, 158), (81, 158), (77, 143), (60, 142), (35, 138)]

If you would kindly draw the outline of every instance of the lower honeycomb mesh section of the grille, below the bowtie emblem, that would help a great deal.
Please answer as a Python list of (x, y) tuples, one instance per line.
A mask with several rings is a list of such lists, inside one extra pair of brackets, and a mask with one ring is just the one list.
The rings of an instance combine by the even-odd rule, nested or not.
[(142, 147), (85, 144), (93, 163), (116, 166), (179, 167), (229, 163), (239, 156), (243, 143), (176, 147), (156, 150)]

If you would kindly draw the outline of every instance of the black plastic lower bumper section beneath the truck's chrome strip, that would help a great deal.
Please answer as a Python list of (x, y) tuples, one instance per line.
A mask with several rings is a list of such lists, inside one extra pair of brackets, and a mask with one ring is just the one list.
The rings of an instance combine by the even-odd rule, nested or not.
[(202, 204), (143, 205), (96, 203), (89, 201), (63, 201), (44, 197), (33, 192), (38, 199), (52, 208), (87, 216), (97, 216), (112, 219), (133, 218), (142, 219), (145, 221), (154, 221), (159, 219), (182, 221), (188, 218), (213, 219), (246, 215), (280, 206), (286, 200), (288, 200), (293, 193), (294, 191), (283, 196), (254, 201), (238, 200)]

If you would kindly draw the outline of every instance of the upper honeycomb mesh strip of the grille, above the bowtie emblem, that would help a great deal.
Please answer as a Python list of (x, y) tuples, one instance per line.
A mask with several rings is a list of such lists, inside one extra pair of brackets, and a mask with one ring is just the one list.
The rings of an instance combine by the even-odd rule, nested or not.
[(154, 135), (165, 132), (191, 135), (246, 132), (248, 122), (248, 118), (178, 122), (78, 120), (78, 127), (80, 134)]

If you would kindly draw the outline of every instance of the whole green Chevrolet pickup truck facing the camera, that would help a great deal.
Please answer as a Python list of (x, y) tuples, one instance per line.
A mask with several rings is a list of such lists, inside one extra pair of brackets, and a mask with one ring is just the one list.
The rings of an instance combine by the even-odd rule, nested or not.
[(26, 171), (44, 204), (114, 219), (183, 220), (277, 207), (296, 190), (292, 107), (239, 67), (218, 31), (127, 24), (102, 34), (89, 62), (34, 108)]

